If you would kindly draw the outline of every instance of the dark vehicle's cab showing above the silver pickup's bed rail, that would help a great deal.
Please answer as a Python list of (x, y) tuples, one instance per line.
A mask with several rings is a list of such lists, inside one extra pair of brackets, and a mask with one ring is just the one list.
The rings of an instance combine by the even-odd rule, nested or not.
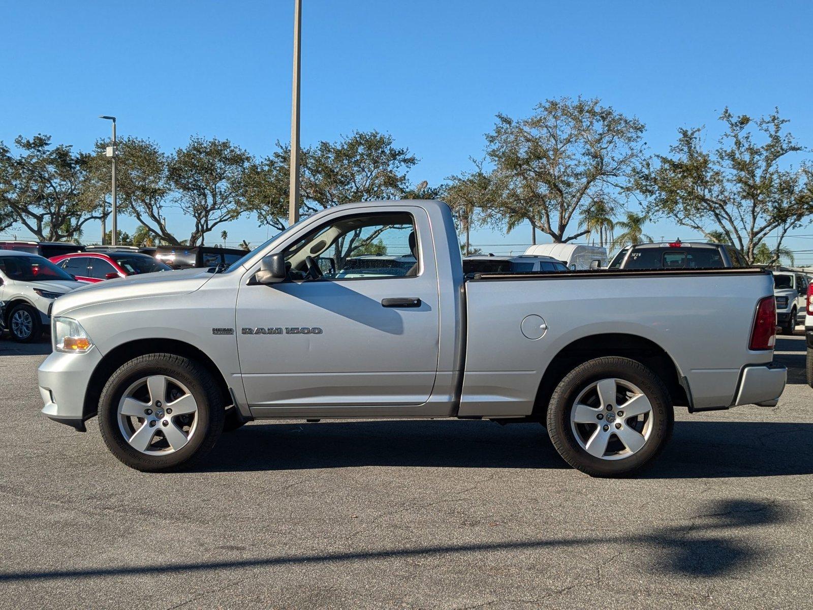
[(639, 243), (622, 248), (611, 269), (720, 269), (750, 267), (734, 246), (708, 242)]

